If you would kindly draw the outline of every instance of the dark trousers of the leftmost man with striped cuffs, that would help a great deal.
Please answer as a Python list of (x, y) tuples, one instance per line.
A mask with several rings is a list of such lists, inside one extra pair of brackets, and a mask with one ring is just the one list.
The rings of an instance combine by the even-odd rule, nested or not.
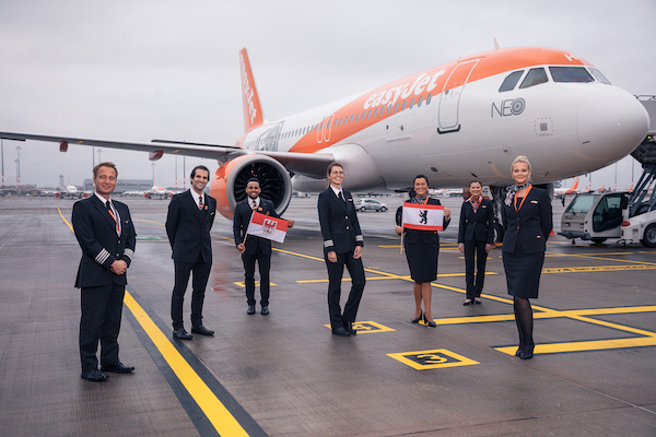
[(118, 333), (125, 285), (81, 288), (80, 359), (82, 373), (98, 368), (96, 351), (101, 342), (101, 365), (118, 363)]

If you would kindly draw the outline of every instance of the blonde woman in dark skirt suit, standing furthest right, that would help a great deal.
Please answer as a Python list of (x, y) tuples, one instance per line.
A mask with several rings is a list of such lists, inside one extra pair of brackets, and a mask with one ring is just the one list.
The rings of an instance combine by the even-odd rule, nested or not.
[(530, 185), (530, 163), (526, 156), (517, 156), (511, 169), (515, 185), (507, 188), (502, 206), (503, 267), (519, 331), (515, 355), (529, 359), (535, 343), (528, 299), (538, 297), (547, 239), (552, 229), (551, 199), (547, 191)]

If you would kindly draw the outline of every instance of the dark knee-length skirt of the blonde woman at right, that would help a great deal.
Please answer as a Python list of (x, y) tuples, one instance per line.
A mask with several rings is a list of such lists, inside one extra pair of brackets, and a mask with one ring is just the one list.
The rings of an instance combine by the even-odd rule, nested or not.
[(515, 297), (538, 298), (543, 264), (544, 252), (523, 253), (519, 244), (514, 253), (503, 252), (508, 294)]

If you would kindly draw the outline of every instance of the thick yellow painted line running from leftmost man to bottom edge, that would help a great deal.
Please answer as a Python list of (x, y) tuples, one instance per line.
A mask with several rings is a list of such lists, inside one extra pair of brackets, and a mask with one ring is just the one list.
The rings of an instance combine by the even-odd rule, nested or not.
[(198, 376), (127, 290), (124, 302), (219, 435), (248, 436), (242, 425), (227, 411), (225, 405), (219, 401), (202, 378)]

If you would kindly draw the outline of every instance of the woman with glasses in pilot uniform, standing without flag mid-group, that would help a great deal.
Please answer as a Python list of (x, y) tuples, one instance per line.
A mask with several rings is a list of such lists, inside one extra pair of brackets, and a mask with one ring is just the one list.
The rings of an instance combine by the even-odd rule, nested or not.
[[(328, 268), (330, 327), (335, 335), (349, 336), (356, 333), (353, 322), (365, 283), (362, 264), (364, 240), (353, 198), (341, 187), (343, 178), (344, 170), (341, 165), (332, 163), (328, 166), (330, 186), (319, 194), (318, 210), (324, 237), (324, 256)], [(339, 299), (344, 265), (351, 275), (351, 293), (342, 314)]]

